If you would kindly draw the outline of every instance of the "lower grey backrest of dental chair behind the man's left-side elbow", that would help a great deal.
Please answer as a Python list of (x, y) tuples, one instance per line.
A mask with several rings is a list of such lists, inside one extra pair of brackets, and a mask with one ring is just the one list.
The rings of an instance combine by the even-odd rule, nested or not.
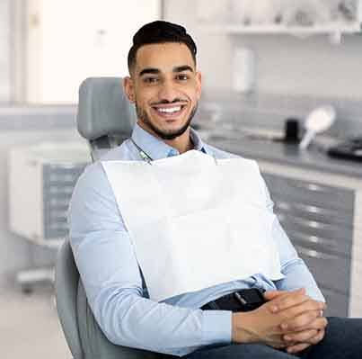
[(88, 305), (69, 241), (57, 255), (57, 313), (74, 359), (157, 359), (159, 355), (115, 346), (104, 336)]

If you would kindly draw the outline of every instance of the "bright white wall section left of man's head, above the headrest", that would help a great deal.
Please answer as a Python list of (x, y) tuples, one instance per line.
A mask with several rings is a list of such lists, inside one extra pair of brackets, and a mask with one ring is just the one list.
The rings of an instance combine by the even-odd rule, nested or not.
[(132, 36), (158, 0), (28, 0), (27, 100), (76, 103), (89, 76), (128, 75)]

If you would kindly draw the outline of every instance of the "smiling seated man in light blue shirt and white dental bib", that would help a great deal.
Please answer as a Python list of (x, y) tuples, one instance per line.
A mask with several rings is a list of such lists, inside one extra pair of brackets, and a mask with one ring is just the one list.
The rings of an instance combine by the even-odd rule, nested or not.
[[(71, 245), (95, 319), (116, 345), (192, 359), (357, 357), (361, 321), (327, 326), (257, 166), (190, 128), (196, 52), (179, 25), (137, 31), (123, 84), (137, 110), (132, 137), (75, 187)], [(266, 303), (238, 310), (251, 288)]]

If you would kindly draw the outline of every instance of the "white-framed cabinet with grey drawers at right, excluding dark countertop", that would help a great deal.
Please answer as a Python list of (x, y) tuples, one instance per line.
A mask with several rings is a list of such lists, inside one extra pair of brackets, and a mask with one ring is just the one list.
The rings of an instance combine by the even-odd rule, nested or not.
[[(328, 303), (362, 315), (362, 180), (260, 161), (275, 212)], [(358, 189), (359, 187), (359, 189)]]

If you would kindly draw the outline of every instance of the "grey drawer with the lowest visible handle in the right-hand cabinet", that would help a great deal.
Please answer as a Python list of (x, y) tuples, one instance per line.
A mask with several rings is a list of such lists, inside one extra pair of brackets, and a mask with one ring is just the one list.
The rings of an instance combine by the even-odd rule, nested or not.
[(305, 261), (315, 280), (322, 287), (341, 294), (349, 294), (350, 260), (295, 245), (298, 255)]

